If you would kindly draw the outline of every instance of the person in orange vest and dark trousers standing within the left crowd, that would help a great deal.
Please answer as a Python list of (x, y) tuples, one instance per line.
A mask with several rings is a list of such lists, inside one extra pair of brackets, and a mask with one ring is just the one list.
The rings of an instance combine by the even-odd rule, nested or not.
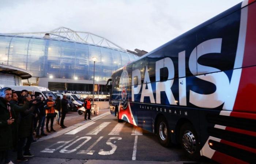
[[(54, 121), (54, 106), (55, 103), (53, 101), (52, 96), (49, 96), (48, 101), (46, 102), (46, 132), (50, 133), (50, 132), (56, 132), (56, 130), (53, 129), (53, 121)], [(48, 128), (49, 125), (49, 121), (51, 120), (50, 123), (50, 130)]]

